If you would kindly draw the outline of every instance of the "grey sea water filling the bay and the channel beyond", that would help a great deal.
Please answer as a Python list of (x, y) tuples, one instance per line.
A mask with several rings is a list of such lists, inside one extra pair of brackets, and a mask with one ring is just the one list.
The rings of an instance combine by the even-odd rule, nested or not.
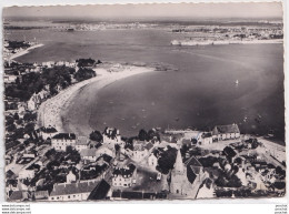
[[(207, 130), (216, 124), (238, 123), (242, 132), (271, 131), (283, 140), (282, 44), (180, 48), (170, 45), (179, 35), (161, 30), (23, 34), (37, 37), (46, 45), (18, 58), (22, 62), (91, 57), (166, 63), (178, 69), (127, 78), (100, 90), (98, 95), (93, 91), (97, 86), (86, 86), (63, 114), (76, 123), (70, 125), (91, 130), (109, 125), (120, 129), (123, 135), (134, 135), (142, 128)], [(79, 109), (87, 114), (78, 113)]]

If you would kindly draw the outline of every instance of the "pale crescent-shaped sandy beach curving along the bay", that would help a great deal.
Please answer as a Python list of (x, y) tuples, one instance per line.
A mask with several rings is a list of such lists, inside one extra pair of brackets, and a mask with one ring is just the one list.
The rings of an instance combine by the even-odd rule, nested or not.
[[(73, 98), (81, 93), (81, 91), (88, 86), (89, 84), (96, 84), (97, 91), (103, 89), (104, 86), (122, 80), (124, 78), (129, 78), (136, 74), (141, 74), (146, 72), (156, 71), (153, 68), (148, 67), (136, 67), (136, 65), (120, 65), (114, 64), (110, 67), (102, 67), (94, 69), (97, 72), (97, 77), (76, 83), (66, 90), (61, 91), (58, 95), (47, 100), (43, 102), (38, 111), (38, 124), (40, 126), (54, 126), (59, 132), (73, 132), (76, 134), (88, 134), (91, 131), (89, 128), (89, 123), (87, 126), (81, 125), (81, 129), (78, 126), (71, 126), (68, 123), (67, 119), (63, 118), (66, 114), (67, 108), (72, 104)], [(83, 95), (83, 94), (82, 94)], [(84, 94), (89, 96), (90, 94)], [(96, 93), (93, 95), (97, 95)], [(89, 98), (87, 98), (89, 99)], [(84, 118), (87, 115), (83, 115)], [(66, 126), (66, 128), (64, 128)], [(69, 126), (69, 130), (67, 129)]]

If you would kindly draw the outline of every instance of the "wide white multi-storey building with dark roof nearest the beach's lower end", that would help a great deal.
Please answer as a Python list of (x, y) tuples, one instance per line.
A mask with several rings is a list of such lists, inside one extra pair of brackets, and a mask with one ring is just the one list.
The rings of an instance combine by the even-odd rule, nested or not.
[(68, 146), (76, 147), (76, 134), (58, 133), (51, 139), (51, 145), (57, 151), (66, 151)]

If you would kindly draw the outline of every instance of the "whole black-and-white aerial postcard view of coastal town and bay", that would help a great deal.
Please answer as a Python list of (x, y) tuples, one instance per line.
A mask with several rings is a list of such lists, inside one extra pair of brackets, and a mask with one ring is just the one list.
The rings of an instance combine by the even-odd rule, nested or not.
[(4, 8), (6, 201), (283, 197), (282, 11)]

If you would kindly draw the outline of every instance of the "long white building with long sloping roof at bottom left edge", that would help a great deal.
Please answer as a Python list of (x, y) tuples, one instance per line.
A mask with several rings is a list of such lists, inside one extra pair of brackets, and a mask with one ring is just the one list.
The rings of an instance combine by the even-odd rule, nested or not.
[(86, 201), (98, 184), (98, 181), (54, 184), (49, 201)]

